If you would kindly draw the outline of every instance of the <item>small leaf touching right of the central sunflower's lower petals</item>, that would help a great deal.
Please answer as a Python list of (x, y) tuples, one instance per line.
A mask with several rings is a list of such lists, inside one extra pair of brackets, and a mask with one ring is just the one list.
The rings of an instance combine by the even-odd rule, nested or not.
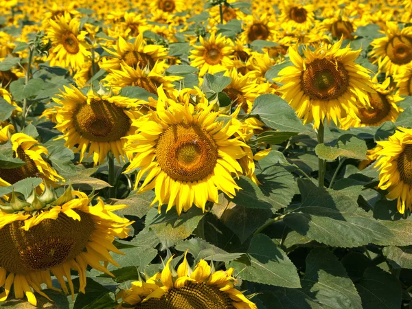
[[(272, 151), (273, 152), (273, 151)], [(271, 203), (273, 213), (287, 207), (297, 191), (297, 183), (290, 172), (279, 166), (266, 168), (257, 175), (264, 201)]]

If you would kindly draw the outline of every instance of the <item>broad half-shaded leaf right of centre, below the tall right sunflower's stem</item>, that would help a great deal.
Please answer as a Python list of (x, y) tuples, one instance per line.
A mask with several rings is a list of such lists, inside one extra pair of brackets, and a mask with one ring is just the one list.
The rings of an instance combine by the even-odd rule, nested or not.
[(344, 190), (327, 191), (302, 179), (298, 186), (302, 203), (284, 222), (301, 235), (333, 247), (358, 247), (393, 236)]

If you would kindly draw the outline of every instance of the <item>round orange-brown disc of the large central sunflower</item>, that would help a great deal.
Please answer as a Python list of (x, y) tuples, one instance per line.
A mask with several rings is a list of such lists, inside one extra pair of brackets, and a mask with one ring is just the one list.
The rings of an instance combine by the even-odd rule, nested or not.
[(218, 148), (197, 124), (174, 124), (159, 137), (156, 155), (161, 169), (175, 181), (200, 181), (214, 171)]

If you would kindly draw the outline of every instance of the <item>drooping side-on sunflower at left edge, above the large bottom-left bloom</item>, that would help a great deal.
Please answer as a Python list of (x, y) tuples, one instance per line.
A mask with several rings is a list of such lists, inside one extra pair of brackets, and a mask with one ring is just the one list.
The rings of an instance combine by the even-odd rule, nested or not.
[(52, 166), (43, 159), (42, 155), (49, 155), (47, 149), (38, 145), (38, 141), (24, 133), (14, 133), (12, 125), (1, 130), (0, 143), (12, 144), (13, 157), (25, 162), (19, 168), (0, 168), (0, 187), (13, 185), (28, 177), (40, 177), (47, 184), (65, 181)]

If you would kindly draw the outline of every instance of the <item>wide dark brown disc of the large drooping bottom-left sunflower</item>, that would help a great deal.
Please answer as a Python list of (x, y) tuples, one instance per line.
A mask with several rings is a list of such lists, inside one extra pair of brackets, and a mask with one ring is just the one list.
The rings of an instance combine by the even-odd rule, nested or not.
[(76, 258), (94, 230), (90, 214), (76, 213), (80, 221), (60, 213), (56, 220), (43, 220), (28, 231), (22, 229), (22, 220), (0, 229), (0, 267), (27, 275)]

